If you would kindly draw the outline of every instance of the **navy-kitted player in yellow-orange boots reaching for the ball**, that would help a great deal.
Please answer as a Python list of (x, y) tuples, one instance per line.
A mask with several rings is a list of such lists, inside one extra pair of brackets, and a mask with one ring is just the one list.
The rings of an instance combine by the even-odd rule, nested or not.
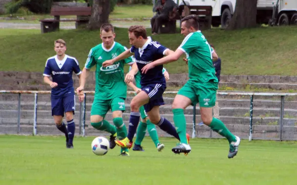
[[(162, 58), (164, 55), (173, 53), (172, 50), (160, 45), (158, 42), (152, 41), (151, 38), (147, 36), (147, 31), (144, 26), (131, 26), (128, 29), (128, 32), (132, 47), (118, 55), (116, 58), (103, 62), (103, 67), (112, 65), (114, 62), (134, 54), (136, 64), (133, 64), (132, 69), (138, 68), (138, 70), (141, 71), (141, 69), (150, 62)], [(139, 108), (142, 105), (144, 105), (151, 123), (159, 126), (161, 130), (174, 136), (176, 139), (179, 139), (174, 126), (164, 117), (161, 117), (159, 113), (159, 106), (164, 105), (162, 94), (166, 89), (166, 81), (162, 74), (162, 69), (163, 66), (159, 65), (147, 74), (141, 74), (142, 91), (131, 100), (128, 136), (125, 139), (116, 141), (119, 146), (131, 148), (133, 137), (140, 120)], [(130, 83), (134, 79), (134, 75), (134, 71), (129, 72), (125, 77), (125, 82)]]

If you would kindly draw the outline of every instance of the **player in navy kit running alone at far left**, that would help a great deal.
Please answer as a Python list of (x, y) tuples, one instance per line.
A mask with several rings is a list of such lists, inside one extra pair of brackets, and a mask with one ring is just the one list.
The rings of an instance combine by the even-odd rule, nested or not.
[[(81, 70), (76, 58), (65, 54), (66, 43), (58, 39), (54, 42), (55, 56), (48, 58), (44, 70), (44, 82), (51, 87), (51, 115), (58, 130), (65, 134), (66, 147), (73, 148), (75, 123), (75, 94), (72, 72), (80, 78)], [(51, 76), (52, 81), (49, 79)], [(66, 115), (67, 128), (63, 122)]]

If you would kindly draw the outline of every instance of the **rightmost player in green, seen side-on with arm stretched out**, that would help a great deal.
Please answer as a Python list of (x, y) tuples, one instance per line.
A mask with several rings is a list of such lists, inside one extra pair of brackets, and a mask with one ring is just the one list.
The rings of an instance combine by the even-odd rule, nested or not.
[(218, 79), (215, 76), (212, 59), (213, 56), (217, 58), (217, 55), (199, 31), (197, 15), (186, 16), (181, 22), (181, 34), (186, 36), (182, 44), (174, 53), (146, 65), (142, 69), (142, 73), (146, 73), (154, 66), (176, 61), (183, 53), (186, 53), (190, 79), (179, 90), (172, 103), (173, 121), (181, 144), (172, 148), (172, 151), (174, 153), (191, 151), (186, 139), (184, 110), (189, 105), (196, 105), (199, 102), (202, 122), (211, 130), (228, 139), (230, 144), (228, 158), (233, 158), (238, 152), (240, 138), (234, 136), (221, 120), (212, 117), (212, 107), (215, 105), (218, 89)]

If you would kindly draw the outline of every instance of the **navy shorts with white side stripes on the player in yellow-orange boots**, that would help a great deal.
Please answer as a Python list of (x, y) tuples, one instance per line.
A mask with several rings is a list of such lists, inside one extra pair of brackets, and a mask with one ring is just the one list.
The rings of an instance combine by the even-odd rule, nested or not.
[(149, 101), (144, 105), (146, 112), (149, 112), (154, 106), (164, 105), (164, 100), (162, 94), (166, 90), (166, 85), (164, 84), (149, 84), (141, 88), (142, 91), (146, 92), (149, 97)]

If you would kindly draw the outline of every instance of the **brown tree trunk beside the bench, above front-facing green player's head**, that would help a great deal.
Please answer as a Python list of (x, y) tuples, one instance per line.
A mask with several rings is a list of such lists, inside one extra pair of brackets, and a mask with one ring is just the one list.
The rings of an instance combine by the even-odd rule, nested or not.
[(108, 23), (109, 0), (93, 0), (92, 14), (88, 28), (90, 30), (99, 30), (101, 25)]

